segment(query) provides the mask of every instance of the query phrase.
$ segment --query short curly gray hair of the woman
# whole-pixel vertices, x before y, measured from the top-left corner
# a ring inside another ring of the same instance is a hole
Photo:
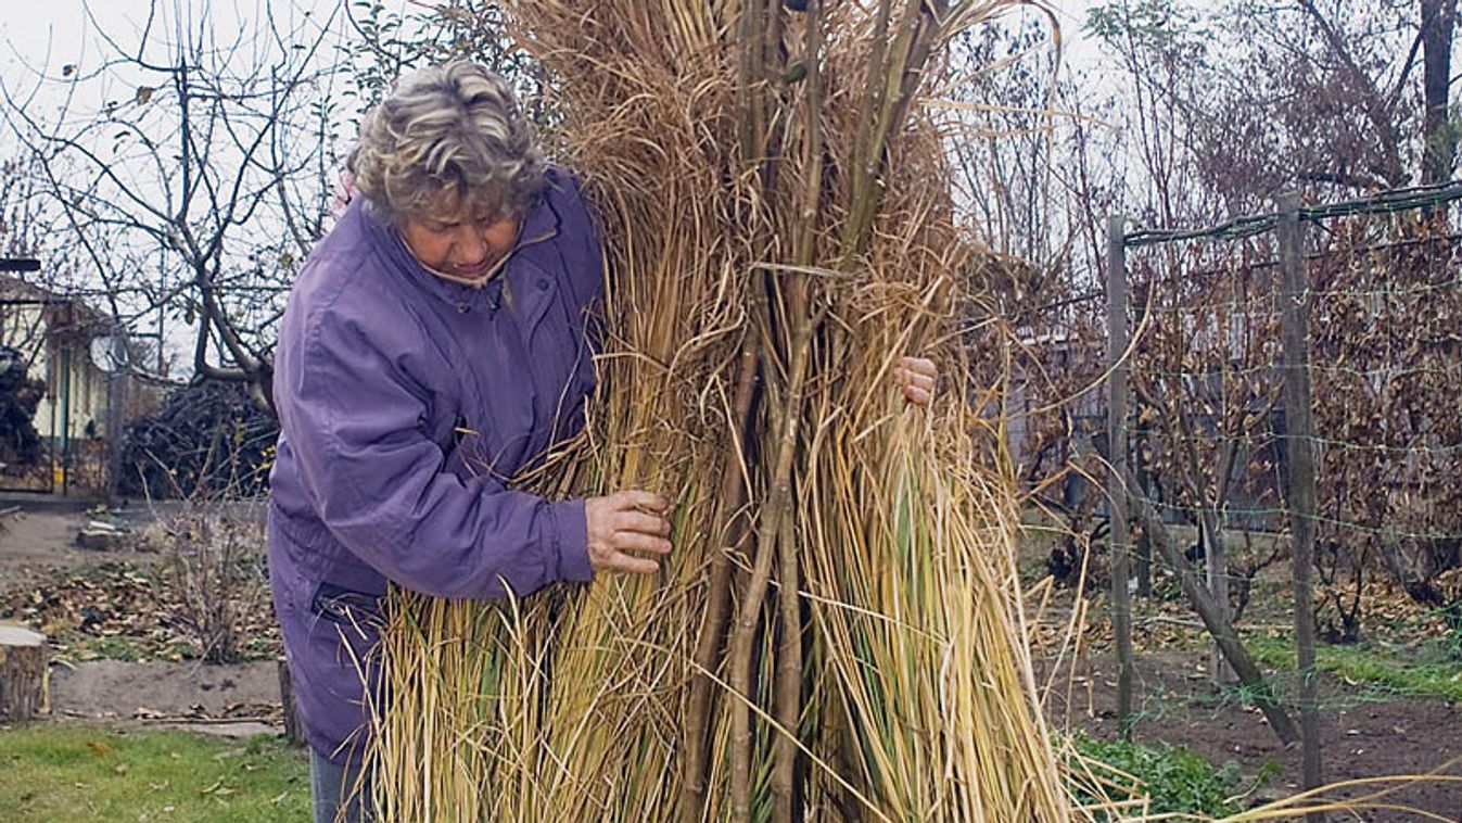
[[[544,187],[538,140],[512,89],[468,60],[402,76],[366,114],[348,167],[395,225],[427,216],[444,194],[472,213],[520,216]]]

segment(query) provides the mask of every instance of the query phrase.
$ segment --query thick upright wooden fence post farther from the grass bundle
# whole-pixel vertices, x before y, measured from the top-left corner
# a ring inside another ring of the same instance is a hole
[[[1300,672],[1303,788],[1320,785],[1320,715],[1316,706],[1314,602],[1314,411],[1310,401],[1310,289],[1300,234],[1300,196],[1279,199],[1279,327],[1284,338],[1284,421],[1288,453],[1289,534],[1294,541],[1294,645]],[[1311,816],[1317,819],[1319,816]]]

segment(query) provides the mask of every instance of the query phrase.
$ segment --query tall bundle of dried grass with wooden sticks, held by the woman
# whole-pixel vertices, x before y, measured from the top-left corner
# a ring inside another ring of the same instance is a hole
[[[677,548],[523,602],[398,595],[383,819],[1072,817],[915,96],[1015,4],[504,4],[611,272],[588,430],[523,482],[662,491]],[[931,412],[890,389],[905,352],[944,364]]]

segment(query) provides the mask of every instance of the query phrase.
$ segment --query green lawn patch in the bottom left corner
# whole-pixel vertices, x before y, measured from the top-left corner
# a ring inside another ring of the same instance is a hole
[[[80,724],[0,727],[6,823],[310,819],[306,750]]]

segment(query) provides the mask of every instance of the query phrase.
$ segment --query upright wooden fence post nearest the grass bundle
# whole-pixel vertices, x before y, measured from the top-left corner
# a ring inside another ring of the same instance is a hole
[[[1132,732],[1132,574],[1127,570],[1127,219],[1107,218],[1107,500],[1111,506],[1111,623],[1117,636],[1117,724]]]

